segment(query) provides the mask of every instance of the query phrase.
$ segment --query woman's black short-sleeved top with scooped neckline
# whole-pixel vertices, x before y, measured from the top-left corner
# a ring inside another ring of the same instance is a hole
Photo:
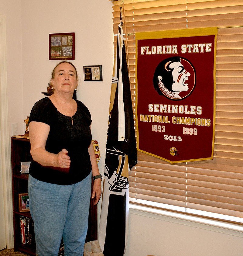
[[[80,182],[91,172],[91,161],[88,147],[91,143],[91,115],[87,107],[77,102],[77,112],[74,116],[65,116],[58,112],[51,100],[46,97],[33,106],[29,115],[32,121],[50,125],[46,140],[46,150],[57,154],[63,148],[67,149],[71,164],[69,172],[62,168],[44,167],[32,161],[29,174],[43,182],[59,185],[71,185]],[[73,119],[73,124],[72,124]]]

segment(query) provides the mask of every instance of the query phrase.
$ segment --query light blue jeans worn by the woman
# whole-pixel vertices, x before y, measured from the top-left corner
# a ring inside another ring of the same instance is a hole
[[[58,255],[63,237],[65,255],[83,256],[91,173],[74,185],[50,184],[29,175],[28,195],[35,228],[36,255]]]

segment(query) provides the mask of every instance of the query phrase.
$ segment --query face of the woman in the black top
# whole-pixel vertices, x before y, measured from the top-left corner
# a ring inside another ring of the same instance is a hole
[[[74,67],[69,63],[58,65],[51,83],[57,92],[74,92],[78,85]]]

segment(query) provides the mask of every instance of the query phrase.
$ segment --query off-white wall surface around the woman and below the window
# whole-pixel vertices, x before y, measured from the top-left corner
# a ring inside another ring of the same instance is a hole
[[[104,169],[108,105],[113,68],[112,4],[108,0],[0,0],[7,21],[7,82],[9,133],[18,123],[19,134],[33,104],[43,97],[58,61],[48,60],[49,33],[75,32],[75,60],[80,75],[77,98],[91,111],[93,138]],[[84,65],[102,65],[103,82],[84,82]],[[99,203],[100,211],[101,203]],[[242,236],[224,234],[207,226],[189,225],[173,218],[130,211],[125,256],[242,255]],[[188,249],[191,247],[192,249]],[[114,254],[115,255],[115,254]]]

